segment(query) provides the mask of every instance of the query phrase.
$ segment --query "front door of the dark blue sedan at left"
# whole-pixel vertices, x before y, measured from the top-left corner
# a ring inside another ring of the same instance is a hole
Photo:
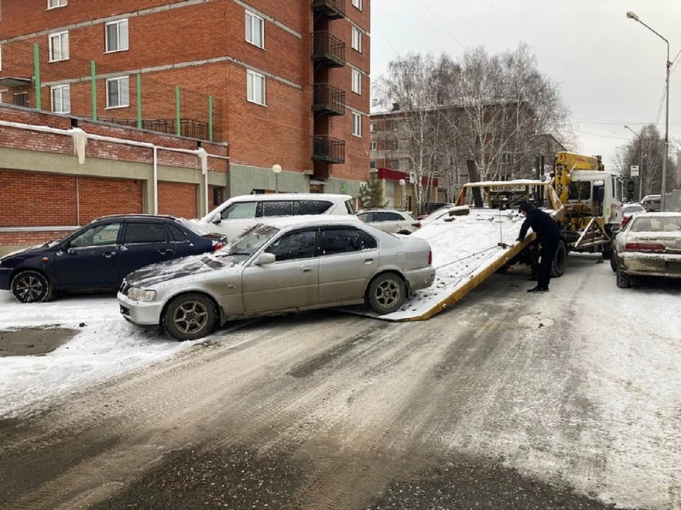
[[[118,285],[121,222],[97,223],[71,238],[54,259],[55,279],[66,288]]]

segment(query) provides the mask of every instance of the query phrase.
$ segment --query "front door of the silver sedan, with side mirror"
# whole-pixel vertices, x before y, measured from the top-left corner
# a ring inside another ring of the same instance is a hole
[[[265,248],[277,257],[272,264],[243,270],[241,288],[247,314],[316,306],[319,302],[319,258],[316,228],[285,233]]]

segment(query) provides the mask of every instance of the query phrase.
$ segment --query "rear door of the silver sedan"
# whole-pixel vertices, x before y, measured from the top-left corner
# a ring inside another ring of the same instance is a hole
[[[320,235],[320,304],[362,299],[378,267],[377,241],[350,226],[323,227]]]

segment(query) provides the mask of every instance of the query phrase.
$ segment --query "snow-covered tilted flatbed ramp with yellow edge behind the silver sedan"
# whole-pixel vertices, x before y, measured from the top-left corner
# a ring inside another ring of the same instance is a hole
[[[526,245],[516,243],[524,217],[517,211],[471,209],[466,216],[451,216],[411,235],[426,239],[433,250],[436,278],[393,314],[378,315],[368,309],[344,309],[386,321],[423,321],[459,301],[496,272]],[[502,243],[502,245],[499,245]]]

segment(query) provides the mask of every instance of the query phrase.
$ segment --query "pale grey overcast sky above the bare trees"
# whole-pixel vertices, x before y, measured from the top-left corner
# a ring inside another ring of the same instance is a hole
[[[681,0],[372,0],[372,78],[408,52],[484,45],[489,52],[524,41],[541,72],[560,82],[580,152],[606,165],[618,145],[658,119],[664,133],[667,46],[626,11],[681,50]],[[679,64],[681,57],[676,61]],[[670,86],[670,143],[681,143],[681,65]],[[673,69],[673,68],[672,68]],[[661,107],[661,109],[660,109]]]

